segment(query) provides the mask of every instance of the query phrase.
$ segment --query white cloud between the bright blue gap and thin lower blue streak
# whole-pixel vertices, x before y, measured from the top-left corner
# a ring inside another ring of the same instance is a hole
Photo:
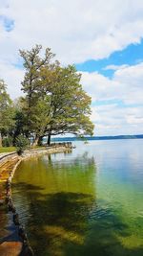
[[[82,72],[82,83],[92,101],[121,100],[125,104],[143,104],[143,62],[121,67],[112,79],[97,72]]]

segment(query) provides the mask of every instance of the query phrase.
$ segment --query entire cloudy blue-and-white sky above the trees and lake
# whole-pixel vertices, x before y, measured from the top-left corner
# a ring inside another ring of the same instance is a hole
[[[143,133],[142,0],[0,0],[0,78],[22,92],[19,49],[51,48],[92,97],[94,135]]]

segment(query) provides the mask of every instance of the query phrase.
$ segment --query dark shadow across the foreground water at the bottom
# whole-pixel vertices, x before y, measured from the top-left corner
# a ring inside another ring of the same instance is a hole
[[[129,248],[119,241],[118,236],[131,236],[127,224],[109,209],[99,209],[91,195],[42,195],[36,186],[18,186],[31,201],[26,227],[36,256],[143,255],[143,247]]]

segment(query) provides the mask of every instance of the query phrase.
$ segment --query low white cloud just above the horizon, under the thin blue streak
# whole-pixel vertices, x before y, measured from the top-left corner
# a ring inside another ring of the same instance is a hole
[[[92,107],[92,121],[96,135],[142,134],[143,106],[119,107],[102,105]]]

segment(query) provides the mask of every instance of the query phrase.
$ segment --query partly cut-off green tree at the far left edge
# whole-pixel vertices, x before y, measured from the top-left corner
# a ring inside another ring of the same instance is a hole
[[[10,96],[7,93],[7,85],[0,80],[0,147],[2,146],[3,136],[10,134],[14,128],[14,108]]]

